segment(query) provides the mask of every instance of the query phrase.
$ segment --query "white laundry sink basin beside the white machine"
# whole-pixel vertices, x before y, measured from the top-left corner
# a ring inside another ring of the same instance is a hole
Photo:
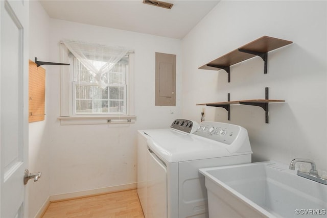
[[[259,162],[202,168],[209,217],[327,217],[327,185]]]

